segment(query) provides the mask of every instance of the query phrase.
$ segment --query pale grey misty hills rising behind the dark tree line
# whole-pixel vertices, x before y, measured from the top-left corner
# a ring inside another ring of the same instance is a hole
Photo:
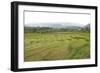
[[[76,28],[83,27],[83,25],[78,23],[38,23],[27,24],[25,27]]]

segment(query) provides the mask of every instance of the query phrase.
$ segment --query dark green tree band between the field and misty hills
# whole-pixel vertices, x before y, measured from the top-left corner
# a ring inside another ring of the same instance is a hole
[[[24,32],[67,32],[67,31],[81,31],[81,32],[90,32],[90,24],[85,25],[84,27],[78,26],[69,26],[65,28],[52,28],[52,27],[27,27],[24,26]]]

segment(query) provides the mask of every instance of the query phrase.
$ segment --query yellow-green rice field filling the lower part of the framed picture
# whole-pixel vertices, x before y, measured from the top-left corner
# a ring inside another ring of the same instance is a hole
[[[89,32],[24,33],[24,61],[90,58]]]

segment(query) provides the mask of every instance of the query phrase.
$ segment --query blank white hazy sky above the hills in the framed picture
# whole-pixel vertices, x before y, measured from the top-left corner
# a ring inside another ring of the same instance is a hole
[[[46,13],[46,12],[25,12],[25,25],[37,23],[79,23],[86,25],[90,23],[89,14],[69,13]],[[39,24],[41,26],[41,24]],[[42,24],[43,25],[43,24]]]

